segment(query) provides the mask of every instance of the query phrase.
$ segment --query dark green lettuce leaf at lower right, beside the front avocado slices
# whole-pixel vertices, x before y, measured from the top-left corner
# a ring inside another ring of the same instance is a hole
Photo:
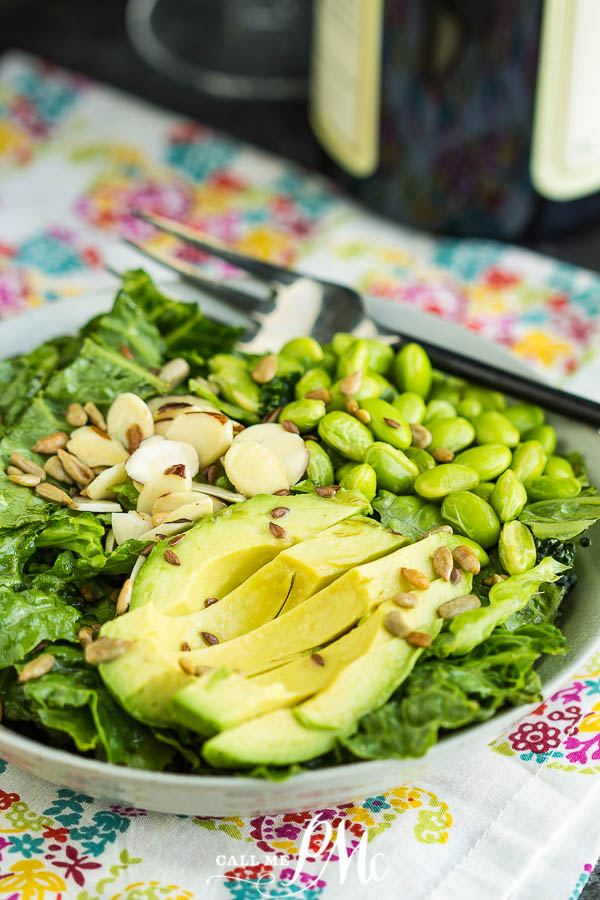
[[[498,628],[466,656],[421,662],[395,697],[364,716],[356,734],[341,743],[363,759],[422,756],[442,729],[481,722],[506,703],[537,699],[535,660],[564,649],[552,625]]]

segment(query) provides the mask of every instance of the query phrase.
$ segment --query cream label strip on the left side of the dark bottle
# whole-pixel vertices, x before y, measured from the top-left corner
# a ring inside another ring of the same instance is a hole
[[[317,0],[310,89],[313,131],[352,175],[379,162],[383,0]]]

